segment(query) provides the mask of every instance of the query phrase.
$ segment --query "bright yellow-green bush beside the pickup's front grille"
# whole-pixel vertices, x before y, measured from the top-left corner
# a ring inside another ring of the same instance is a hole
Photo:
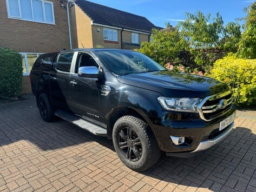
[[[241,59],[229,54],[214,63],[209,76],[229,85],[235,105],[256,104],[256,59]]]

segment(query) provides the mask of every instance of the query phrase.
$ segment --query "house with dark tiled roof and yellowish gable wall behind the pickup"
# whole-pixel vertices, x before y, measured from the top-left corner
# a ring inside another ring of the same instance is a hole
[[[78,48],[139,48],[158,28],[145,17],[85,0],[77,0],[73,9]]]

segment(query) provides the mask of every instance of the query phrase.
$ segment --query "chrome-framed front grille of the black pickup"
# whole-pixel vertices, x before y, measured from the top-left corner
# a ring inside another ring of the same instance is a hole
[[[211,121],[226,114],[232,107],[231,91],[206,97],[198,106],[202,120]]]

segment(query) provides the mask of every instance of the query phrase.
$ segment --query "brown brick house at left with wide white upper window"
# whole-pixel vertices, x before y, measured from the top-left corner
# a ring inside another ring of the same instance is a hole
[[[70,48],[67,3],[62,2],[0,1],[0,47],[14,49],[23,57],[22,94],[31,92],[29,72],[38,55]]]

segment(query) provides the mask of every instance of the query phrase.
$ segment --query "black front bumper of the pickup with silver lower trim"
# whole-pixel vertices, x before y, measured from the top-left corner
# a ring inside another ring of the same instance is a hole
[[[228,135],[234,122],[221,131],[219,124],[233,114],[235,116],[235,109],[231,109],[221,118],[211,122],[203,121],[200,118],[187,121],[169,120],[168,123],[165,120],[166,125],[154,125],[153,132],[160,149],[165,151],[168,156],[191,157],[212,147]],[[175,145],[170,136],[185,137],[185,143]]]

